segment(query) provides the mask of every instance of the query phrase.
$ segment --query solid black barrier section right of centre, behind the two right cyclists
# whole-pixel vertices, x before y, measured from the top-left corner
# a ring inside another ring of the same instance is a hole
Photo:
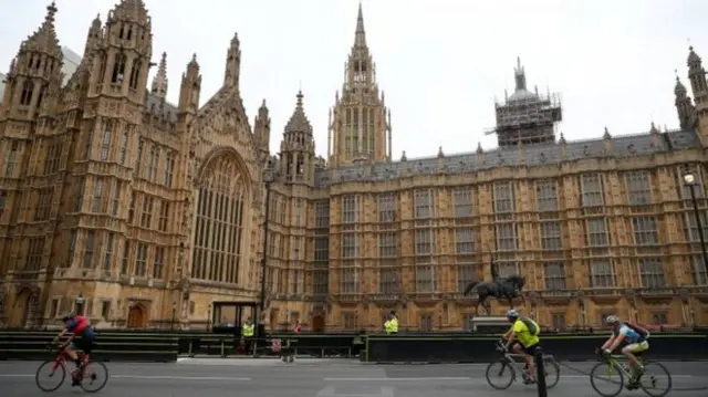
[[[546,354],[561,361],[595,359],[595,349],[607,333],[542,335]],[[360,358],[366,363],[487,363],[498,358],[494,342],[499,334],[369,335]],[[707,333],[659,333],[649,338],[653,359],[695,361],[708,358]]]

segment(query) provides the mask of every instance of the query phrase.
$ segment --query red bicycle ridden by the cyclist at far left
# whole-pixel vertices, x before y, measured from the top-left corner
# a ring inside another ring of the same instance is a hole
[[[63,344],[59,346],[59,354],[54,359],[48,359],[37,369],[37,375],[34,376],[34,382],[37,383],[37,387],[42,391],[54,391],[60,388],[64,384],[64,379],[66,378],[66,363],[67,363],[67,352],[70,344]],[[49,349],[53,349],[54,346],[48,346]],[[79,354],[79,353],[77,353]],[[87,359],[86,355],[81,353],[82,373],[79,373],[79,368],[72,370],[70,373],[72,380],[76,378],[81,378],[79,383],[79,387],[86,393],[96,393],[103,389],[108,382],[108,368],[106,368],[105,364],[101,362],[94,362]],[[55,375],[59,375],[59,383],[56,386],[45,387],[42,380],[42,369],[49,369],[49,377],[54,378]],[[86,383],[85,380],[90,380]],[[96,388],[92,386],[96,385]]]

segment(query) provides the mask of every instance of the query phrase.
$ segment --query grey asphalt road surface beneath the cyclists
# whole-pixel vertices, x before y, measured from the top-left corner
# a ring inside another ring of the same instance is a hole
[[[0,362],[0,396],[35,397],[40,363]],[[594,363],[568,363],[587,372]],[[708,362],[664,363],[674,377],[668,396],[705,397]],[[111,378],[105,397],[457,397],[537,396],[534,386],[514,384],[498,391],[485,380],[485,365],[366,365],[346,359],[181,358],[174,364],[107,363]],[[59,396],[82,394],[65,383]],[[643,391],[624,391],[642,396]],[[549,396],[596,396],[589,377],[562,367]]]

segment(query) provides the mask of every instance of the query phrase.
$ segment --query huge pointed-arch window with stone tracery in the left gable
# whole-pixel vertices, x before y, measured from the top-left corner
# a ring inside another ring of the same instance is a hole
[[[237,284],[247,248],[249,195],[236,159],[223,155],[205,170],[197,200],[191,276]]]

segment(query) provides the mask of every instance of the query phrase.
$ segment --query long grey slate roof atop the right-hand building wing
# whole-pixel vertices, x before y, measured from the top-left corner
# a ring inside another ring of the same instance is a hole
[[[700,147],[698,136],[694,130],[673,130],[658,133],[659,144],[654,145],[652,134],[627,135],[611,138],[615,158],[650,155],[655,153],[678,152]],[[442,169],[439,169],[440,158],[426,157],[394,161],[389,164],[358,164],[332,169],[317,169],[314,176],[315,187],[327,187],[346,181],[379,181],[393,180],[404,176],[430,174],[466,174],[502,166],[520,165],[519,153],[524,155],[523,165],[539,166],[562,161],[562,150],[565,146],[565,160],[583,158],[605,158],[605,140],[603,138],[569,142],[566,144],[538,144],[519,147],[503,147],[479,153],[446,155],[441,158]],[[483,156],[483,158],[480,158]]]

